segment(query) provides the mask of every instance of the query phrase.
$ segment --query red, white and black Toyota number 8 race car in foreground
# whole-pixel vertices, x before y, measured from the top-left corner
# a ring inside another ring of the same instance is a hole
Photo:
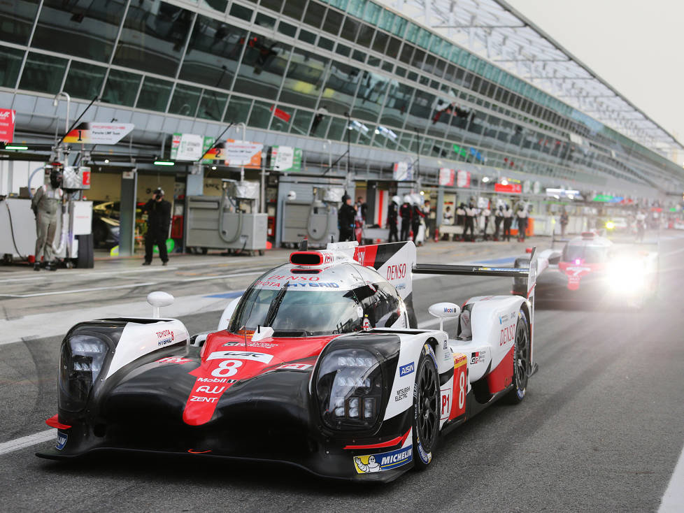
[[[499,399],[525,398],[535,261],[415,260],[412,242],[293,252],[228,305],[218,331],[194,339],[206,339],[201,349],[180,321],[157,318],[173,299],[163,292],[148,296],[155,318],[76,324],[47,421],[57,445],[37,455],[222,456],[380,482],[427,468],[441,435]],[[525,277],[529,294],[432,305],[442,323],[457,321],[448,335],[417,328],[416,273]]]

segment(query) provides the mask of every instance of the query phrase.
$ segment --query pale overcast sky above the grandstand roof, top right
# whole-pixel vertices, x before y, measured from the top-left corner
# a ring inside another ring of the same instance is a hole
[[[684,143],[684,1],[507,1]]]

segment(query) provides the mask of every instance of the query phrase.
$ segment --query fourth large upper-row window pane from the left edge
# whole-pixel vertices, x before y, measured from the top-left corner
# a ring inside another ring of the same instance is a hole
[[[179,78],[229,89],[245,45],[247,31],[198,16]]]

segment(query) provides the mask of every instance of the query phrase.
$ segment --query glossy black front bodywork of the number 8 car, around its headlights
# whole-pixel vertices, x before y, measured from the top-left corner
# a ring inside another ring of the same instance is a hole
[[[111,328],[117,330],[121,326]],[[315,358],[306,360],[312,366],[304,371],[273,366],[254,377],[238,380],[220,396],[211,420],[199,426],[186,424],[183,411],[196,383],[197,374],[193,375],[193,371],[201,367],[201,359],[185,350],[178,352],[176,347],[175,354],[168,349],[155,352],[95,384],[83,410],[60,407],[59,422],[70,427],[59,430],[55,449],[38,456],[62,459],[94,451],[152,451],[279,461],[325,477],[390,481],[412,465],[359,474],[353,458],[399,449],[399,442],[383,448],[345,447],[397,440],[411,428],[411,408],[382,420],[397,366],[399,338],[390,334],[346,335],[329,343],[323,354],[354,345],[372,347],[384,356],[381,365],[385,402],[380,421],[371,429],[334,430],[325,425],[315,391],[309,391],[312,374],[311,386],[315,389]],[[163,358],[166,362],[159,363]],[[219,386],[221,380],[216,378],[206,384]]]

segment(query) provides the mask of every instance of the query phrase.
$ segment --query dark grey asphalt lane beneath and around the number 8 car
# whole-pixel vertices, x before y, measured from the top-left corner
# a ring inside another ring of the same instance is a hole
[[[660,291],[641,312],[537,310],[540,370],[521,405],[494,405],[448,435],[427,472],[382,486],[294,468],[204,459],[0,456],[3,511],[655,511],[684,440],[684,238],[664,240]],[[420,257],[419,257],[420,259]],[[38,273],[36,273],[38,274]],[[429,277],[429,304],[500,294],[508,280]],[[181,317],[189,331],[217,312]],[[43,431],[56,412],[61,336],[0,347],[0,442]],[[275,421],[275,419],[274,419]]]

